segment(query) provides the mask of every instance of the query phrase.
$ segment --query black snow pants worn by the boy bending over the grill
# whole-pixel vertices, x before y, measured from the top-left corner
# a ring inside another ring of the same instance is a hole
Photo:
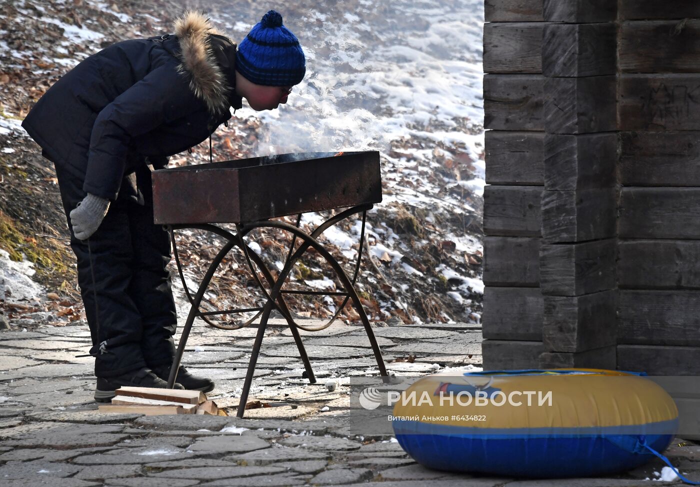
[[[94,374],[111,377],[170,365],[176,309],[169,271],[170,241],[153,224],[151,169],[125,176],[116,202],[90,239],[73,234],[69,213],[85,197],[82,178],[56,164],[78,284],[92,336]]]

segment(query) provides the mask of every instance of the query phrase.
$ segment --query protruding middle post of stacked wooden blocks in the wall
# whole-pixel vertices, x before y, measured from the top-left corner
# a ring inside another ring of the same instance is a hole
[[[542,367],[615,369],[615,2],[545,0]]]

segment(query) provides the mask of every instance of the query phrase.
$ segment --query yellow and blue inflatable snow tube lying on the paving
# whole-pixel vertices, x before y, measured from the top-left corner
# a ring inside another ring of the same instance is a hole
[[[633,372],[550,369],[444,372],[394,403],[402,448],[426,467],[510,477],[631,470],[664,451],[678,409]]]

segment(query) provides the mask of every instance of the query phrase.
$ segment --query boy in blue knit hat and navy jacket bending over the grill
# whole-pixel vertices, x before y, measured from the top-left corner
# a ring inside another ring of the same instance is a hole
[[[206,140],[243,98],[256,111],[277,108],[304,78],[304,52],[274,10],[238,48],[200,13],[174,32],[88,57],[22,122],[56,168],[100,402],[120,386],[167,387],[174,358],[170,241],[153,225],[147,164],[162,169]],[[184,367],[176,381],[214,388]]]

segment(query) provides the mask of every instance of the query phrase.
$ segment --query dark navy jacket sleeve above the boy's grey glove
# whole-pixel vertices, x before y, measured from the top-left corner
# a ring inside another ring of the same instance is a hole
[[[200,104],[174,66],[165,64],[148,73],[97,115],[83,190],[116,199],[132,139],[200,109]]]

